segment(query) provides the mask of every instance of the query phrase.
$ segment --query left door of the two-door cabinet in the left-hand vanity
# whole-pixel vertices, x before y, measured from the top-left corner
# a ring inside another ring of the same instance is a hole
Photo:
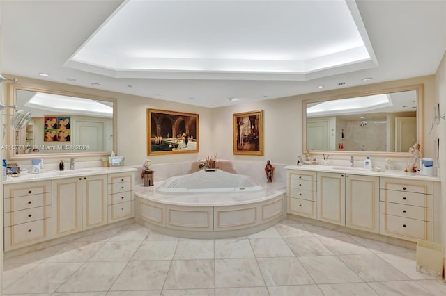
[[[82,178],[54,180],[52,190],[53,238],[81,231]]]

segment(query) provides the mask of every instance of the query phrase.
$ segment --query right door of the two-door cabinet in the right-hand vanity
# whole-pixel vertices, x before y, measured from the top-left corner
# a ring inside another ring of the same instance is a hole
[[[379,177],[346,175],[346,227],[379,233]]]

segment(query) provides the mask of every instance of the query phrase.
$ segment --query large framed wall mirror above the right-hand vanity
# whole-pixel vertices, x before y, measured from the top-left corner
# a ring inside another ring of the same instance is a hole
[[[303,102],[304,151],[406,155],[422,144],[423,85]]]

